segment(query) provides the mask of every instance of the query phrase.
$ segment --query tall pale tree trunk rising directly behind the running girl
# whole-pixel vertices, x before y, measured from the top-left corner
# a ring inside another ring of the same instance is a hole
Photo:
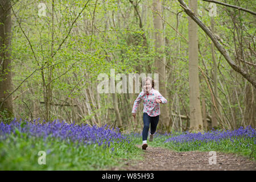
[[[153,10],[159,14],[162,14],[162,1],[153,1]],[[155,51],[160,55],[155,57],[156,72],[159,73],[159,92],[163,97],[167,97],[166,90],[166,58],[162,56],[164,54],[164,38],[163,38],[163,23],[159,14],[154,13],[154,30],[155,30]],[[159,118],[159,130],[162,132],[169,132],[170,129],[170,117],[168,105],[161,105],[161,114]]]

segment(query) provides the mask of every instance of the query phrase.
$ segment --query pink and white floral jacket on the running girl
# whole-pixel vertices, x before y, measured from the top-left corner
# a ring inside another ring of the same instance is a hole
[[[142,90],[134,101],[132,113],[136,113],[139,103],[143,100],[143,113],[147,113],[151,117],[160,115],[160,105],[155,101],[156,99],[161,100],[162,104],[167,103],[166,98],[158,90],[152,88],[148,94]]]

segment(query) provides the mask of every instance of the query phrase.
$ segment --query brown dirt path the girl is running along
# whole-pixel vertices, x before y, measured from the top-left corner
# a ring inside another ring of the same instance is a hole
[[[138,146],[141,147],[141,146]],[[122,167],[110,170],[172,171],[172,170],[250,170],[256,171],[256,162],[236,154],[216,152],[216,164],[209,164],[208,152],[174,152],[159,147],[147,147],[144,160],[127,160]]]

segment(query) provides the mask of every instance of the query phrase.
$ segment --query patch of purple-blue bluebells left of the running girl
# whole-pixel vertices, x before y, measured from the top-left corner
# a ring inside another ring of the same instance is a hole
[[[10,123],[0,123],[0,140],[5,140],[10,134],[17,135],[24,133],[27,137],[42,137],[56,138],[65,140],[68,143],[78,142],[80,144],[98,144],[101,146],[110,146],[111,143],[128,142],[131,140],[119,132],[119,129],[110,129],[108,125],[97,127],[89,126],[87,124],[76,125],[75,123],[68,124],[55,120],[53,122],[43,121],[38,122],[39,119],[33,122],[28,121],[11,121]]]

